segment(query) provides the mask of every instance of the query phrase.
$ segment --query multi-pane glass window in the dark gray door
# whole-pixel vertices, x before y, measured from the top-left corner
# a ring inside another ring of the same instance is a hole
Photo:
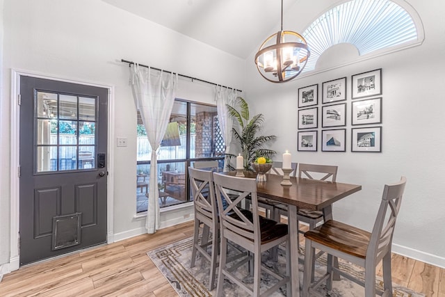
[[[95,168],[97,98],[35,96],[35,172]]]

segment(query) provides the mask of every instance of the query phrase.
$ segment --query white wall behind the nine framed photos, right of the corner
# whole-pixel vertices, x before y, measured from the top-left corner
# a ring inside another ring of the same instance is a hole
[[[279,152],[277,159],[281,159],[284,150],[290,150],[295,162],[338,165],[339,182],[362,185],[362,191],[334,204],[334,218],[371,230],[383,185],[405,175],[407,186],[394,251],[445,267],[445,189],[441,181],[445,176],[445,5],[442,1],[409,3],[423,20],[423,45],[280,84],[261,78],[254,63],[250,63],[252,53],[246,64],[249,79],[244,96],[254,113],[264,113],[264,134],[277,136],[273,145]],[[305,15],[316,15],[310,7],[306,11]],[[321,57],[325,67],[334,65],[336,57],[344,58],[345,49],[348,48],[340,46],[326,52]],[[351,152],[351,75],[378,68],[382,68],[382,152]],[[318,83],[320,115],[323,81],[341,77],[347,77],[346,152],[321,152],[320,118],[318,152],[298,152],[298,88]]]

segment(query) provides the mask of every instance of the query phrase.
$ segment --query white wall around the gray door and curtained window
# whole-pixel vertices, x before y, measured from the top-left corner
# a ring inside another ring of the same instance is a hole
[[[6,88],[0,93],[0,268],[10,257],[11,69],[114,87],[111,115],[114,134],[128,138],[128,147],[115,147],[115,140],[111,140],[115,152],[115,170],[111,172],[115,181],[114,232],[118,238],[140,234],[145,220],[133,218],[136,212],[136,107],[129,88],[129,67],[120,63],[120,59],[238,89],[243,87],[244,61],[99,0],[0,0],[0,13],[2,11],[0,29],[4,27],[4,39],[0,44],[3,45],[0,74],[3,71],[1,83]],[[213,86],[180,78],[177,97],[214,103]],[[179,215],[184,220],[189,214]],[[161,219],[163,225],[177,220],[165,214]]]

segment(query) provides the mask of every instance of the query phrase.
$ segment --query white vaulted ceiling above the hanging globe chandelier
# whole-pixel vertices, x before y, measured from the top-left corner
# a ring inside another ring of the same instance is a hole
[[[280,0],[102,1],[243,59],[280,28]],[[296,2],[284,0],[284,12]]]

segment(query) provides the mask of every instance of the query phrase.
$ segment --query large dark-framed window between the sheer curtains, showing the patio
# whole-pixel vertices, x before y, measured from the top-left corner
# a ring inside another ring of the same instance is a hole
[[[147,211],[152,149],[138,112],[137,212]],[[216,106],[175,100],[170,123],[158,151],[159,205],[191,201],[187,168],[194,161],[218,160],[223,168],[225,144]]]

